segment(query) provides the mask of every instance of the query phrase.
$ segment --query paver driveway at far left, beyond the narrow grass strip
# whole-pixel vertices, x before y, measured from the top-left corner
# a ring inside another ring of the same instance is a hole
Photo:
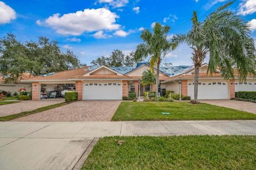
[[[27,100],[27,101],[22,101],[20,103],[5,104],[0,106],[0,117],[18,114],[22,111],[31,111],[37,108],[42,108],[45,106],[62,103],[62,102],[65,102],[64,99],[39,100],[39,101]]]

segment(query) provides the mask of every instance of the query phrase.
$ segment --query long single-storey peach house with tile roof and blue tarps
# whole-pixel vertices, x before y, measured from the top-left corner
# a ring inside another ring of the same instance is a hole
[[[59,93],[68,86],[75,87],[78,100],[122,100],[129,92],[142,95],[145,91],[155,91],[155,85],[142,86],[139,83],[142,72],[147,69],[148,62],[139,62],[135,67],[91,66],[28,78],[22,82],[32,83],[33,100],[44,99],[49,92]],[[248,77],[248,81],[241,84],[238,75],[235,80],[223,79],[220,71],[207,75],[207,64],[203,64],[199,72],[198,99],[230,99],[235,97],[235,91],[256,90],[253,77]],[[193,79],[193,66],[161,67],[159,88],[193,99]]]

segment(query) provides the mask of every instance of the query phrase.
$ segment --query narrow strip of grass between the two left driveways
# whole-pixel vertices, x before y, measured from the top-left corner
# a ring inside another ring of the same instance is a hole
[[[12,120],[12,119],[17,119],[17,118],[20,118],[20,117],[23,117],[23,116],[36,114],[36,113],[41,112],[41,111],[45,111],[45,110],[49,110],[49,109],[53,109],[53,108],[58,108],[58,107],[66,105],[66,104],[68,104],[68,103],[65,103],[65,102],[64,103],[57,103],[57,104],[52,104],[50,106],[38,108],[38,109],[35,109],[35,110],[32,110],[32,111],[23,111],[23,112],[20,112],[19,114],[0,117],[0,121],[3,122],[3,121],[9,121],[9,120]]]

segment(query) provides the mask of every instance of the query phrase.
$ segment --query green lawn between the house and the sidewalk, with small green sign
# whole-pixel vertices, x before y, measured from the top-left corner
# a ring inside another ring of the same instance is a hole
[[[162,115],[170,112],[171,115]],[[189,102],[122,102],[112,121],[120,120],[246,120],[256,115],[245,111]]]

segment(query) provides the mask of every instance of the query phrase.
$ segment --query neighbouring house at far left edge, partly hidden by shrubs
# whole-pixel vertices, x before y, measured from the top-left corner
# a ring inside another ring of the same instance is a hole
[[[29,82],[21,82],[23,79],[28,79],[30,78],[31,75],[26,73],[23,74],[17,82],[15,83],[4,83],[4,77],[0,76],[0,90],[6,91],[6,92],[11,92],[12,95],[17,92],[19,94],[19,90],[21,88],[25,88],[26,91],[30,92],[31,91],[31,83]]]

